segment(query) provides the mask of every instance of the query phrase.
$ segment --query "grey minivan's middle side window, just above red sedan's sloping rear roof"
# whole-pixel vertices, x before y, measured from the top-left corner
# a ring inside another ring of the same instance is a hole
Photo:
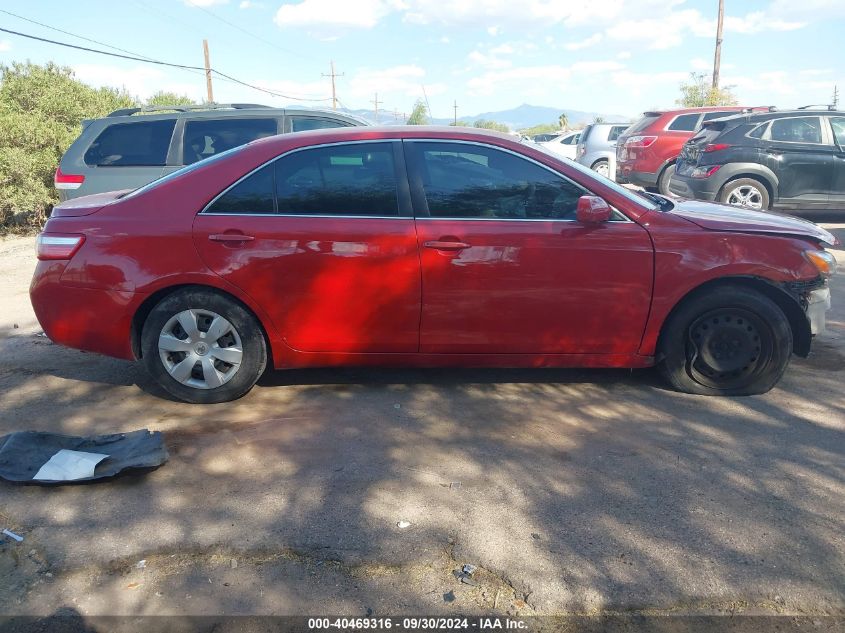
[[[195,119],[185,122],[182,162],[190,165],[278,132],[276,119]]]

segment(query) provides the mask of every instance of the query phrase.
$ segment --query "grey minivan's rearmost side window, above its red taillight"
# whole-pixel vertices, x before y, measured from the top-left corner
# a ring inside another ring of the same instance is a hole
[[[85,152],[85,164],[97,167],[164,165],[175,126],[175,119],[110,125]]]

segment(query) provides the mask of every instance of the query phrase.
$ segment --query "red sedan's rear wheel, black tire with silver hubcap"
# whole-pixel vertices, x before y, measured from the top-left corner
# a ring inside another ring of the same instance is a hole
[[[156,382],[192,404],[240,398],[267,366],[258,320],[236,301],[204,288],[179,290],[153,308],[141,332],[141,353]]]

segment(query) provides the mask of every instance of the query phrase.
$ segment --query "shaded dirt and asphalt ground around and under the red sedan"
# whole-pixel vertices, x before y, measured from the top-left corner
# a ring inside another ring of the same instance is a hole
[[[0,435],[148,428],[171,458],[0,483],[0,529],[24,536],[0,542],[0,614],[845,614],[845,275],[764,396],[651,370],[361,369],[196,406],[39,336],[34,264],[32,238],[0,241]]]

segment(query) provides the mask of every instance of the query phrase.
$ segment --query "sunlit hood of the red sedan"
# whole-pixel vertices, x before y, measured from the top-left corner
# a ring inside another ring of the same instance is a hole
[[[835,246],[837,243],[832,233],[801,218],[697,200],[672,202],[675,203],[675,208],[670,213],[712,231],[795,235],[809,237],[828,246]]]

